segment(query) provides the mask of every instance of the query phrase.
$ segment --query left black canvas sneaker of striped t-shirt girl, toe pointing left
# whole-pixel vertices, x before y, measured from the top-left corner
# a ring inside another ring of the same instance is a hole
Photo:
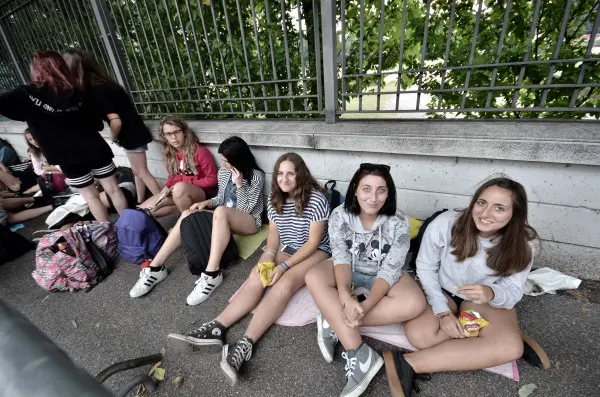
[[[169,347],[191,353],[217,353],[223,349],[227,328],[216,320],[202,324],[200,328],[185,334],[169,334]]]

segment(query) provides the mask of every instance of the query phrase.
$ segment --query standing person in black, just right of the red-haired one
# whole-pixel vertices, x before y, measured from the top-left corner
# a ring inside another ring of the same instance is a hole
[[[80,88],[89,91],[101,109],[101,117],[108,121],[113,142],[121,146],[127,155],[135,175],[138,204],[144,202],[146,187],[153,195],[159,194],[160,185],[148,170],[146,158],[152,135],[123,87],[82,50],[70,49],[63,58]]]

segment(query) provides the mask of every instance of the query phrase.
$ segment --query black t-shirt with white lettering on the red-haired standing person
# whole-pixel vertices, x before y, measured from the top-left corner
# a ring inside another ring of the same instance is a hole
[[[59,166],[98,166],[114,157],[98,133],[103,124],[93,105],[79,91],[31,85],[0,95],[0,114],[26,121],[48,163]]]

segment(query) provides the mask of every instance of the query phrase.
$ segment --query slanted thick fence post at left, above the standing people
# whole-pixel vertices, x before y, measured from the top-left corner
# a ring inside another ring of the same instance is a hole
[[[125,65],[119,41],[115,34],[111,15],[106,9],[105,0],[90,0],[90,3],[115,77],[119,84],[125,87],[127,92],[131,92],[133,88],[131,85],[131,78],[127,72],[127,66]]]

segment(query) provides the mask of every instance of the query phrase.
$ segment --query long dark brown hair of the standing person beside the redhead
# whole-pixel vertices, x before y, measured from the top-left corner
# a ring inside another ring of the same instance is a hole
[[[98,66],[96,59],[89,52],[79,48],[70,48],[62,57],[67,63],[78,89],[85,91],[91,86],[102,84],[121,87]]]

